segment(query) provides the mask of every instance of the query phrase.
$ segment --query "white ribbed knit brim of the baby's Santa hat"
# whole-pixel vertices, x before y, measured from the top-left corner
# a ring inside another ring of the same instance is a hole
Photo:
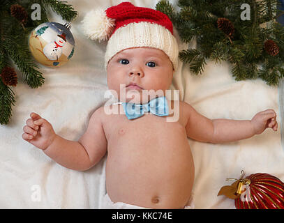
[[[174,70],[177,70],[179,46],[176,38],[164,26],[150,22],[133,22],[120,27],[112,34],[105,52],[105,69],[115,54],[134,47],[162,50],[169,56]]]

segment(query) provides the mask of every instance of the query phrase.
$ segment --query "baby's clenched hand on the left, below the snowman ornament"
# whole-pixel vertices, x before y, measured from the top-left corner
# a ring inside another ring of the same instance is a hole
[[[29,141],[33,146],[44,150],[52,144],[56,134],[52,125],[38,114],[32,112],[30,116],[31,118],[26,122],[27,125],[23,128],[22,138]]]

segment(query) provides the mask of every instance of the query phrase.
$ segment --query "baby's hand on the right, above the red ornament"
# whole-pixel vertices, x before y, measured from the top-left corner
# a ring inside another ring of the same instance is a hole
[[[276,112],[273,109],[267,109],[258,112],[251,120],[255,134],[261,134],[265,129],[272,128],[277,131],[278,123],[276,121]]]

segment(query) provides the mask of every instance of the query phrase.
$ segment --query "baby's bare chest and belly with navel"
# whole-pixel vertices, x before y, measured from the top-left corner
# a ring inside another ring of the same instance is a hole
[[[184,128],[178,123],[167,127],[129,125],[107,142],[106,183],[113,202],[146,208],[186,206],[193,187],[193,157]]]

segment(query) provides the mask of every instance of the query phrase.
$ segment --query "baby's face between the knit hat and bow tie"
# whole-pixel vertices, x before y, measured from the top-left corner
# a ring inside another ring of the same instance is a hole
[[[172,83],[172,75],[172,62],[162,50],[151,47],[124,49],[108,63],[107,86],[117,92],[122,102],[145,103],[165,95]],[[143,90],[152,90],[156,94],[142,97],[142,93],[147,95],[149,92]]]

